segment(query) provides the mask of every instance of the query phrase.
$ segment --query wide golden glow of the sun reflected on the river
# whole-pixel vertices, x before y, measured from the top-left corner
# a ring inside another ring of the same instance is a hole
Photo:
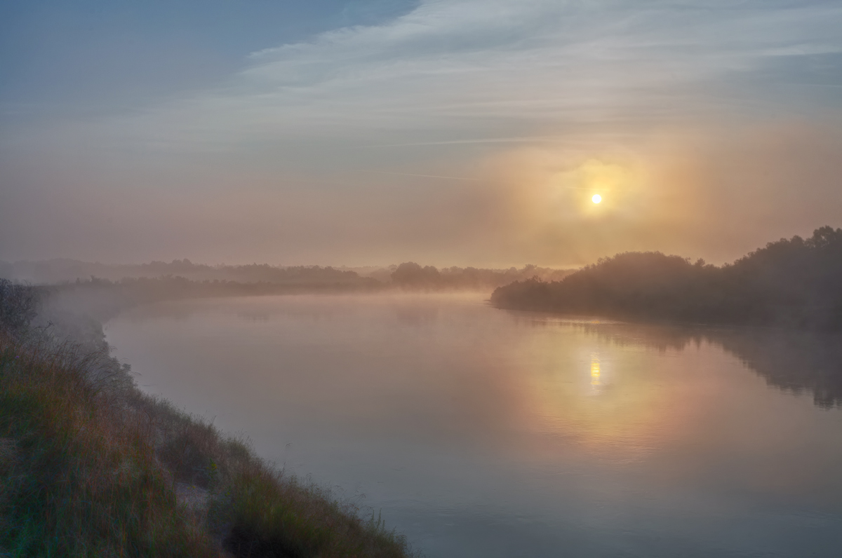
[[[605,343],[574,328],[561,332],[566,335],[546,338],[552,348],[545,354],[552,357],[525,376],[533,396],[532,426],[557,440],[552,447],[626,463],[686,432],[692,406],[666,380],[674,357]],[[582,350],[583,344],[590,347]]]

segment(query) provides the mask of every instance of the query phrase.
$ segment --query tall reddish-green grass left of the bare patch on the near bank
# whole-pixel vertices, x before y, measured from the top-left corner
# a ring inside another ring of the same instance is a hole
[[[216,556],[147,424],[86,380],[90,357],[0,340],[0,545],[21,556]]]

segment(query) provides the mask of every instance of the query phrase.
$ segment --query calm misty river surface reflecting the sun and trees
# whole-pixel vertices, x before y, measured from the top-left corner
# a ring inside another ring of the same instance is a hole
[[[144,389],[431,558],[840,555],[839,337],[482,298],[184,300],[106,331]]]

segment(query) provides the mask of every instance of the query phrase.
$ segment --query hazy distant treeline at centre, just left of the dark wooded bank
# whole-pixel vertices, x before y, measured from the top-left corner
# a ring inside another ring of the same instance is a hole
[[[418,263],[406,262],[397,266],[391,279],[393,285],[405,290],[491,290],[532,277],[557,281],[571,273],[573,271],[539,268],[531,264],[520,269],[437,269],[431,265],[421,267]]]

